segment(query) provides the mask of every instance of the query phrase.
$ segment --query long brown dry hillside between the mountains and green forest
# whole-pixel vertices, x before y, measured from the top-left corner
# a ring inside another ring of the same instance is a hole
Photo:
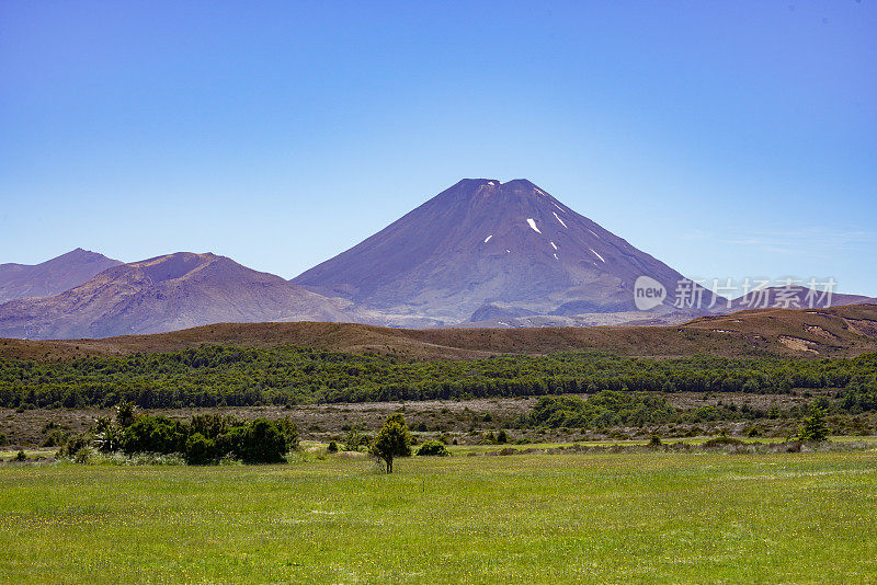
[[[817,310],[764,309],[674,326],[389,329],[350,323],[223,323],[103,340],[0,341],[0,357],[56,359],[168,352],[203,344],[306,345],[327,351],[463,359],[500,353],[605,351],[638,356],[711,354],[842,357],[877,351],[877,305]]]

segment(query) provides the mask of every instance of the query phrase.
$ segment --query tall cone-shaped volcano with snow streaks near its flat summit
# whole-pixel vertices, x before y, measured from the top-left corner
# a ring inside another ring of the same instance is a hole
[[[529,181],[465,179],[293,282],[455,323],[633,311],[639,276],[671,292],[683,278]]]

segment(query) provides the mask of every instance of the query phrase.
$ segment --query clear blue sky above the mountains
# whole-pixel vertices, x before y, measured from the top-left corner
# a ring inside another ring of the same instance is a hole
[[[877,295],[877,3],[0,0],[0,262],[292,277],[478,176]]]

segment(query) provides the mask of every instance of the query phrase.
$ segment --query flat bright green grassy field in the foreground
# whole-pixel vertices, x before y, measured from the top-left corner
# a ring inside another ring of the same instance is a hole
[[[870,583],[877,452],[0,467],[8,583]]]

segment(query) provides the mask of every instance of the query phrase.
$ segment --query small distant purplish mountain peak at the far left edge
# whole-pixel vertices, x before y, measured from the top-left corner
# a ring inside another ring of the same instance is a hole
[[[118,264],[122,263],[117,260],[81,248],[39,264],[0,264],[0,303],[57,295]]]

